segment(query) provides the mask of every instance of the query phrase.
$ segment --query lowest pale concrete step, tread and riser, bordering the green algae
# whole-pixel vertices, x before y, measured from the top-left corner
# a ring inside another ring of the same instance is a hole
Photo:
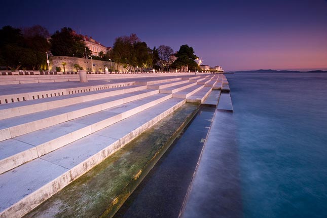
[[[0,217],[21,217],[183,105],[171,98],[0,175]]]

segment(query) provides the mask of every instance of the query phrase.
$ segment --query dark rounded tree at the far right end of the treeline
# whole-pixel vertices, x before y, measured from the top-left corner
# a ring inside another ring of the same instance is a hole
[[[194,66],[196,64],[195,59],[198,58],[194,54],[193,48],[188,45],[180,46],[175,56],[177,59],[173,62],[172,66],[179,70],[184,69],[185,67]]]

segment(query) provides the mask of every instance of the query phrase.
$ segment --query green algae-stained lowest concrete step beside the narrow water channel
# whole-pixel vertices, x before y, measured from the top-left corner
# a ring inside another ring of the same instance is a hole
[[[24,217],[112,217],[197,110],[181,106]]]

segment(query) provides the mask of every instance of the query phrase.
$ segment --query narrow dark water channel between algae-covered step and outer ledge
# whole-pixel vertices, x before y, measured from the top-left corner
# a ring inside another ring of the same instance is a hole
[[[114,217],[178,217],[214,113],[213,107],[200,107]]]

